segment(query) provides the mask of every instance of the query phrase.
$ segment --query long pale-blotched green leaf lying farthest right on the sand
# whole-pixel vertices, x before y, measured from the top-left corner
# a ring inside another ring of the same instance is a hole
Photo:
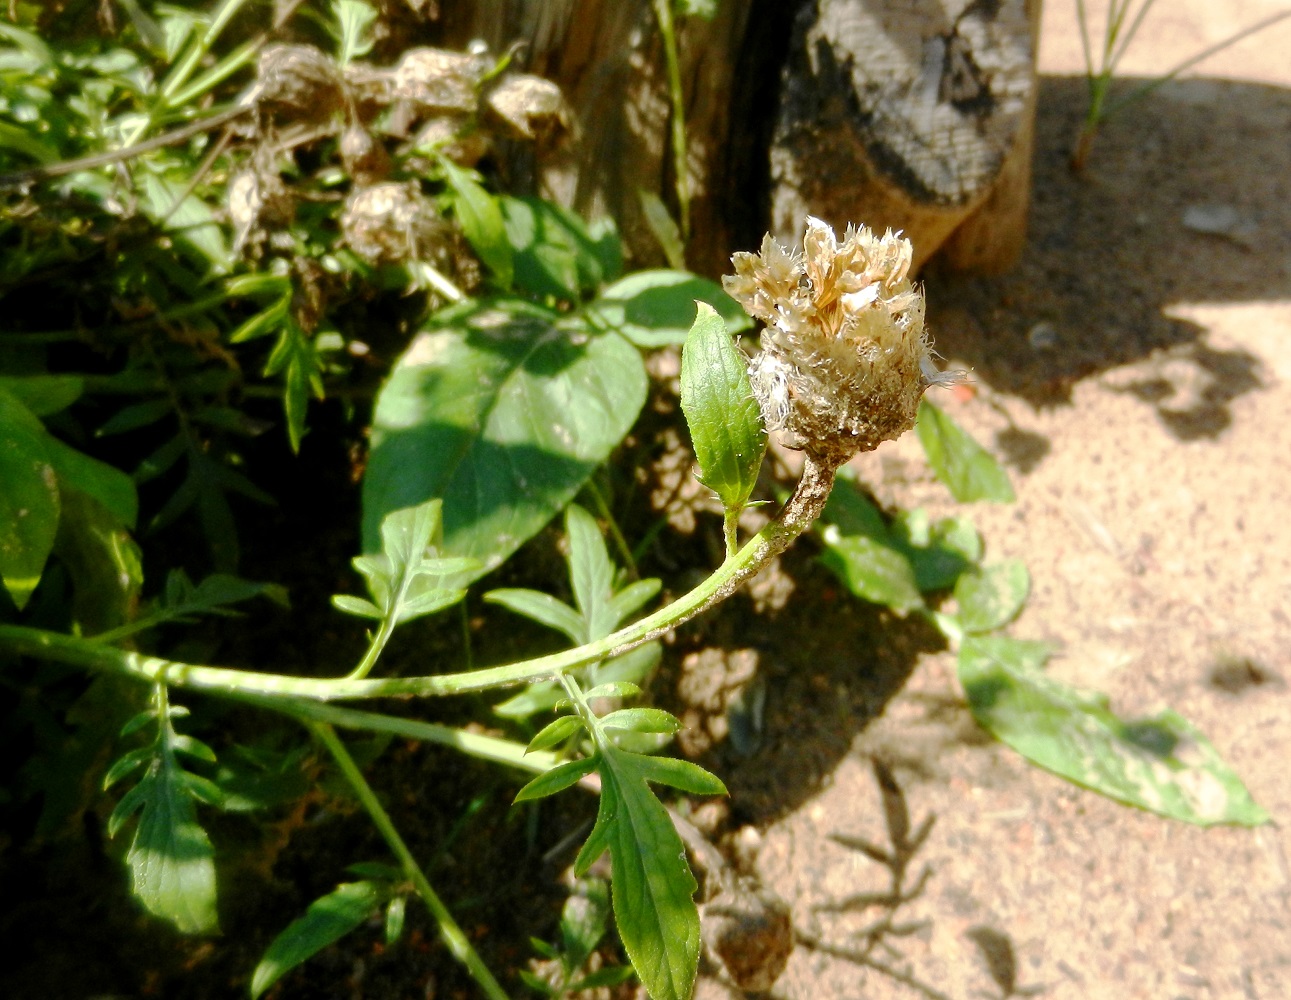
[[[1106,697],[1041,670],[1048,649],[1001,636],[967,636],[959,680],[973,716],[995,738],[1068,781],[1140,809],[1198,826],[1269,819],[1215,747],[1167,710],[1124,721]]]

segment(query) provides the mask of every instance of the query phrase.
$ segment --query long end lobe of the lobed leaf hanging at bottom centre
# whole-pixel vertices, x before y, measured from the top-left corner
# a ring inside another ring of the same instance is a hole
[[[642,761],[651,757],[605,745],[600,759],[600,808],[587,845],[604,843],[609,849],[618,937],[652,1000],[689,1000],[700,959],[700,915],[686,848],[646,783]],[[580,853],[578,861],[584,859]]]

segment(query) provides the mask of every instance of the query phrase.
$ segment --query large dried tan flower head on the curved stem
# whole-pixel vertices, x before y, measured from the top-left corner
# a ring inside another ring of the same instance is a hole
[[[749,378],[771,430],[842,463],[914,426],[937,372],[923,329],[923,294],[910,283],[910,241],[848,226],[843,241],[807,218],[803,249],[769,235],[762,253],[737,253],[726,290],[762,320]]]

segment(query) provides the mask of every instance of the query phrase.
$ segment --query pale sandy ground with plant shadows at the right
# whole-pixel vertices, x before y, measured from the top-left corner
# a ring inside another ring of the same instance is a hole
[[[1281,6],[1161,5],[1124,71]],[[862,961],[799,946],[775,996],[1291,997],[1291,22],[1112,121],[1075,178],[1074,3],[1046,8],[1029,246],[1003,279],[928,275],[937,346],[975,373],[939,401],[1013,472],[1015,506],[972,510],[1032,572],[1012,634],[1061,643],[1052,672],[1124,715],[1193,720],[1276,823],[1201,830],[1069,786],[982,739],[951,654],[924,654],[763,825],[757,862],[826,946],[893,926]],[[950,510],[913,436],[862,471],[886,502]],[[869,683],[852,657],[826,681],[840,705]],[[935,817],[895,912],[837,906],[891,890],[891,866],[831,837],[889,844],[874,757],[914,823]]]

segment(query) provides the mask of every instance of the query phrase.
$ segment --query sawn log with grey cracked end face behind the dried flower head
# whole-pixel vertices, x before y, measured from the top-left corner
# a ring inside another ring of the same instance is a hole
[[[820,0],[800,10],[771,147],[772,231],[793,237],[804,214],[904,230],[918,266],[982,210],[953,262],[1011,263],[1028,205],[1033,8]]]

